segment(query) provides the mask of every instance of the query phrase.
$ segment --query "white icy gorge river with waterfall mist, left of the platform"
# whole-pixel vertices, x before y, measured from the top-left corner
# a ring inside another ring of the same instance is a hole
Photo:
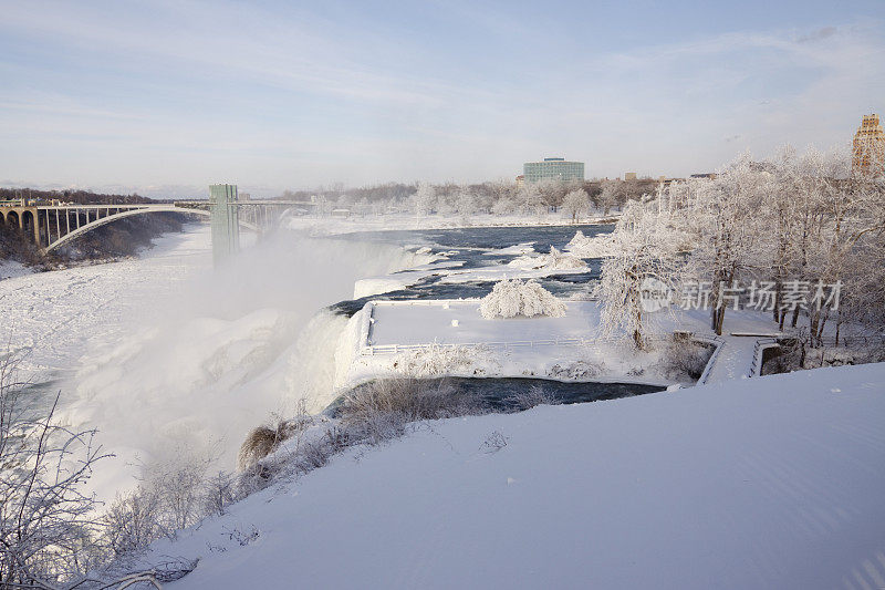
[[[0,338],[32,377],[61,374],[62,420],[117,455],[92,482],[108,499],[152,460],[231,468],[251,428],[302,397],[324,407],[346,319],[317,311],[360,277],[427,260],[281,232],[212,271],[208,227],[191,226],[142,258],[0,281]]]

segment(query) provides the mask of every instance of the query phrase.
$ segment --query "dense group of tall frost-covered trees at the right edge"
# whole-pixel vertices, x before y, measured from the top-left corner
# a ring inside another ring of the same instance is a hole
[[[708,296],[702,304],[717,333],[729,308],[752,301],[753,282],[773,286],[773,320],[801,329],[812,348],[833,329],[839,342],[847,322],[867,337],[883,333],[885,183],[852,176],[850,163],[844,151],[798,155],[788,146],[767,161],[745,154],[716,178],[631,201],[612,236],[618,253],[603,266],[602,299],[615,312],[604,313],[604,327],[641,338],[638,284],[647,265],[667,268],[667,252],[681,251],[675,268]]]

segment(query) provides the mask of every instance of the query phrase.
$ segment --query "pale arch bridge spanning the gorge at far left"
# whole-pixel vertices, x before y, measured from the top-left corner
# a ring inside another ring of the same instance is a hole
[[[236,190],[236,189],[235,189]],[[235,193],[236,195],[236,193]],[[235,200],[225,208],[235,208],[235,224],[259,235],[275,228],[293,208],[310,208],[310,201]],[[0,226],[13,227],[32,237],[34,244],[50,252],[101,226],[136,215],[178,213],[212,217],[211,200],[179,200],[162,204],[33,204],[24,199],[0,203]],[[215,239],[215,237],[214,237]]]

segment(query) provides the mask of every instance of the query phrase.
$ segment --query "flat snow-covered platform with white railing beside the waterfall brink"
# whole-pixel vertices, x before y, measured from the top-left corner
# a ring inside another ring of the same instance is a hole
[[[666,346],[641,352],[623,342],[598,337],[596,301],[566,301],[562,318],[488,320],[480,301],[373,301],[354,318],[351,352],[342,356],[336,377],[340,389],[409,366],[420,351],[452,349],[455,364],[435,360],[441,373],[460,376],[533,376],[562,381],[644,383],[669,386],[694,381],[673,379],[666,368]],[[717,346],[700,384],[723,383],[758,374],[761,341],[756,335],[717,338],[708,328],[707,312],[677,310],[649,318],[649,338],[665,341],[687,331]],[[773,322],[762,313],[731,311],[727,323],[738,333],[762,334]],[[460,349],[460,353],[454,349]],[[402,362],[405,359],[405,363]],[[414,365],[414,363],[413,363]],[[429,376],[429,375],[428,375]]]

